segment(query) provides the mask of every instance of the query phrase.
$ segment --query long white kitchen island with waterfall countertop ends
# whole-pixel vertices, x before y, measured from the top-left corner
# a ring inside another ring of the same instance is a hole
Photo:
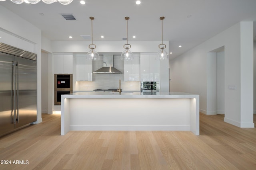
[[[181,92],[61,95],[61,135],[68,131],[192,131],[199,135],[199,95]]]

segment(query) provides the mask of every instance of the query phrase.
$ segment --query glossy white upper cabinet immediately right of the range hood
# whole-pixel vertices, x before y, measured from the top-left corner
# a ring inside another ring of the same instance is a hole
[[[124,61],[124,81],[140,81],[140,55],[133,60]]]

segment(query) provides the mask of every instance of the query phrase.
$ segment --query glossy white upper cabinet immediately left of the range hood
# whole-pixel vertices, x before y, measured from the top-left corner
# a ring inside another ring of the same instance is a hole
[[[92,81],[92,60],[86,55],[76,55],[76,81]]]

